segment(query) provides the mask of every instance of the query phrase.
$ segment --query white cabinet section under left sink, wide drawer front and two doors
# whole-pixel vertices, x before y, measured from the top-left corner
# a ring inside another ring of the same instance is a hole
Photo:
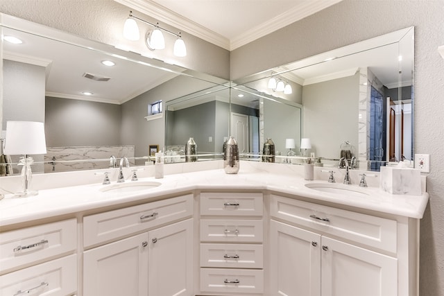
[[[193,203],[184,195],[86,216],[94,247],[83,254],[83,295],[193,295]]]

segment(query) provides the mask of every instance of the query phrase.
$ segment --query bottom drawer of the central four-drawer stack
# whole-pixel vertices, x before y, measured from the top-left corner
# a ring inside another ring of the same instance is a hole
[[[200,292],[263,293],[264,271],[200,268]]]

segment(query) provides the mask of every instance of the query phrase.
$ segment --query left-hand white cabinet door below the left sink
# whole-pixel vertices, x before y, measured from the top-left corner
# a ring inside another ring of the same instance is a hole
[[[83,295],[147,295],[147,242],[145,233],[84,252]]]

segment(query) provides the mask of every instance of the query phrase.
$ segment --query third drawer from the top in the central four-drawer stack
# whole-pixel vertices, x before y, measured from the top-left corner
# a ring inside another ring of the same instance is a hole
[[[200,267],[263,268],[262,245],[232,243],[201,243]]]

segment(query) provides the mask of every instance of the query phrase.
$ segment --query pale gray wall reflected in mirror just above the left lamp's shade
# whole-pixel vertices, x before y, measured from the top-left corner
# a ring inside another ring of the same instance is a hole
[[[44,122],[44,85],[44,67],[3,60],[3,130],[6,121]]]

